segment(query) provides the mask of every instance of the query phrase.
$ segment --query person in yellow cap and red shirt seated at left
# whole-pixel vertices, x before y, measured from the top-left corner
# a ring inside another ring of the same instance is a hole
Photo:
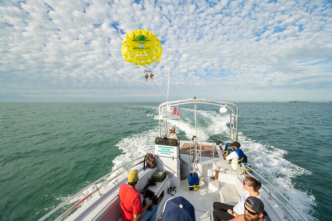
[[[120,186],[120,205],[123,221],[155,221],[157,219],[158,207],[153,205],[152,210],[147,210],[152,201],[147,200],[146,206],[142,207],[142,201],[135,185],[138,180],[138,170],[133,169],[128,173],[128,184]]]

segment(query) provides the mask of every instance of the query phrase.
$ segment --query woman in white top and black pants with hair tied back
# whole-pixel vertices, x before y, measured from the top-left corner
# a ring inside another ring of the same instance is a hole
[[[244,214],[244,204],[248,197],[254,196],[261,199],[259,189],[261,189],[262,183],[254,177],[247,176],[243,180],[243,189],[245,191],[239,198],[238,204],[235,206],[214,202],[213,203],[213,220],[230,220],[234,217]]]

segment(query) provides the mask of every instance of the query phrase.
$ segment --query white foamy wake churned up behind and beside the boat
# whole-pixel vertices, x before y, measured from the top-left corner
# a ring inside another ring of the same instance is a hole
[[[192,139],[195,131],[195,121],[187,115],[193,115],[192,109],[181,108],[182,120],[168,120],[170,125],[176,127],[180,139]],[[186,114],[190,112],[190,114]],[[204,121],[198,121],[198,140],[205,141],[212,139],[211,137],[221,138],[225,142],[230,142],[229,130],[227,123],[229,116],[220,115],[216,111],[198,110],[197,114],[202,117]],[[157,115],[157,114],[156,114]],[[201,125],[209,125],[202,127]],[[113,163],[116,168],[124,163],[143,156],[146,153],[153,153],[154,138],[157,137],[158,128],[144,131],[126,138],[123,138],[116,146],[124,152],[123,155],[115,158]],[[241,148],[248,156],[248,162],[258,170],[270,183],[272,183],[300,212],[304,214],[309,220],[317,220],[310,214],[313,212],[313,206],[316,205],[315,197],[306,190],[299,190],[294,187],[295,177],[303,174],[309,174],[310,171],[296,166],[292,162],[287,161],[284,155],[287,154],[285,150],[263,144],[246,137],[240,131],[238,133],[238,141],[241,143]],[[211,205],[212,206],[212,205]]]

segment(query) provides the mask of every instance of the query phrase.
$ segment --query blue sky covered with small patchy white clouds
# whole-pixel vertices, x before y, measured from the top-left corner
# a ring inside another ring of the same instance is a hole
[[[161,61],[124,61],[136,29]],[[170,100],[330,102],[332,2],[0,0],[0,102],[165,102],[168,73]]]

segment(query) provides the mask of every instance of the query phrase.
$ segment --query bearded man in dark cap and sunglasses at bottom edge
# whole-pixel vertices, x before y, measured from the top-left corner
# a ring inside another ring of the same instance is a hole
[[[244,214],[230,221],[271,221],[264,211],[264,203],[257,197],[250,196],[244,204]]]

